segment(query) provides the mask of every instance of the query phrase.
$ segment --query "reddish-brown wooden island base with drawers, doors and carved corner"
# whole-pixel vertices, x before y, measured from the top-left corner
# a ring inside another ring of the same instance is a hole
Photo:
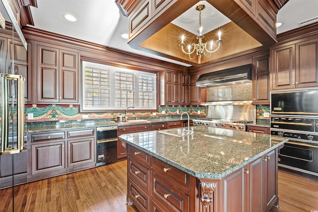
[[[205,179],[126,145],[127,204],[141,212],[269,212],[278,205],[277,149],[222,179]]]

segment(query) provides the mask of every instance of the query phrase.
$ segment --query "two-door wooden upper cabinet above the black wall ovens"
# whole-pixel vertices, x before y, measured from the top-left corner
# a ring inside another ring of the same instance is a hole
[[[270,50],[271,90],[318,86],[318,36]]]

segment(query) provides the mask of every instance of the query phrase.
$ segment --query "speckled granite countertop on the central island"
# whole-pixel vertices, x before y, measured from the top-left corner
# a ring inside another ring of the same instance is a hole
[[[175,137],[149,131],[124,134],[119,139],[195,177],[211,179],[221,179],[288,141],[214,127],[196,126],[194,132]]]

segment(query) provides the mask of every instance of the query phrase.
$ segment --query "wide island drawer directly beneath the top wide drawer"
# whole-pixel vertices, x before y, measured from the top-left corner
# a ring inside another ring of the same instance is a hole
[[[189,212],[190,197],[153,174],[153,200],[169,212]]]

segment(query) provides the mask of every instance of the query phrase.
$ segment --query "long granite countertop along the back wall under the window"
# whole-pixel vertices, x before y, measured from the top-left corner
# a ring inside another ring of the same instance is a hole
[[[143,119],[143,117],[139,117]],[[81,128],[91,128],[91,127],[108,127],[108,126],[126,126],[126,125],[137,125],[137,124],[147,124],[147,123],[158,123],[158,122],[172,122],[180,121],[180,116],[157,116],[157,117],[147,117],[147,122],[137,122],[137,123],[116,123],[114,121],[100,120],[71,120],[71,121],[56,121],[46,124],[46,122],[30,122],[26,124],[25,132],[26,133],[36,133],[36,132],[45,132],[45,131],[59,131],[59,130],[75,130]],[[131,118],[130,120],[133,120]],[[182,120],[188,120],[187,116],[184,115]],[[190,118],[191,120],[191,118]]]

